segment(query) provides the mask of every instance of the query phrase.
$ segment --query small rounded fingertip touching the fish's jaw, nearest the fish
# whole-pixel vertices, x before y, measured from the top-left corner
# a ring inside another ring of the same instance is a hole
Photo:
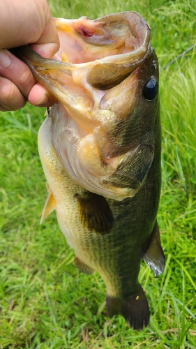
[[[42,85],[35,84],[28,96],[28,101],[38,107],[52,107],[56,103],[56,98],[52,96]]]

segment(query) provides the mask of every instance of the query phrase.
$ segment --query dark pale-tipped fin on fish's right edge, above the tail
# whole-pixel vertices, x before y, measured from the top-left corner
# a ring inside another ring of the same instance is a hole
[[[165,256],[160,244],[160,232],[157,221],[149,238],[143,259],[146,265],[152,269],[155,276],[163,273],[165,267]]]

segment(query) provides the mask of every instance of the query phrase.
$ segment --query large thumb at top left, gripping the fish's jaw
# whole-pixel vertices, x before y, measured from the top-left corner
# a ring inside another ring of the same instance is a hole
[[[0,9],[0,48],[36,43],[45,27],[46,34],[39,43],[58,43],[47,0],[0,1]]]

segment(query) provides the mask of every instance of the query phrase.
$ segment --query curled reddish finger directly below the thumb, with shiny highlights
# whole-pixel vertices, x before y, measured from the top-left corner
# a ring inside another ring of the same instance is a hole
[[[0,50],[0,75],[13,82],[26,98],[36,84],[27,65],[8,50]]]

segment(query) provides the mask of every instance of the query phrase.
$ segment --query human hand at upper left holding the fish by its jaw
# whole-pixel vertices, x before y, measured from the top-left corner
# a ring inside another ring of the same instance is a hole
[[[36,83],[31,71],[7,49],[31,44],[32,50],[51,58],[59,38],[46,0],[7,0],[0,3],[0,111],[26,104],[49,107],[56,99]]]

